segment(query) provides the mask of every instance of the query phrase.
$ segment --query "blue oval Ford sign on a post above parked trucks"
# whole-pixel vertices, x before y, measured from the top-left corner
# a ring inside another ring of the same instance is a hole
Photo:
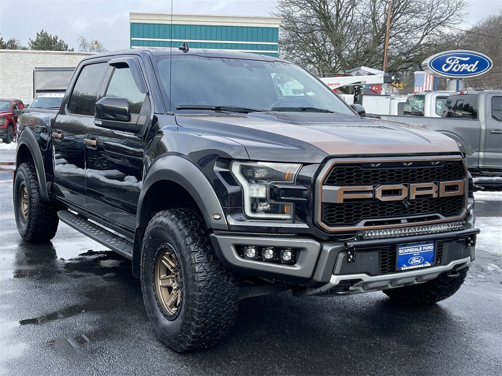
[[[492,65],[491,59],[479,52],[457,50],[428,57],[422,68],[435,76],[465,78],[486,73]]]

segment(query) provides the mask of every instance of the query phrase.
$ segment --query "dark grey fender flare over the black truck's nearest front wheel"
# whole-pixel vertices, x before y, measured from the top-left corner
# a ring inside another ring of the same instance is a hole
[[[223,208],[214,192],[214,188],[202,170],[190,160],[178,155],[166,155],[158,158],[149,168],[141,190],[137,212],[137,227],[148,226],[149,213],[144,210],[144,199],[149,188],[160,180],[168,180],[181,185],[197,203],[209,229],[228,230]],[[214,214],[221,218],[215,220]]]

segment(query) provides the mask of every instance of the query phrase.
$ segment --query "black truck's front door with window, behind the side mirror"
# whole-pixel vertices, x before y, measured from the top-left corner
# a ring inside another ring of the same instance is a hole
[[[126,98],[131,123],[146,125],[152,107],[148,95],[138,89],[131,68],[119,64],[110,69],[102,96]],[[143,179],[145,141],[135,133],[107,129],[100,123],[92,121],[86,129],[86,139],[92,140],[85,150],[87,208],[107,221],[133,230]]]

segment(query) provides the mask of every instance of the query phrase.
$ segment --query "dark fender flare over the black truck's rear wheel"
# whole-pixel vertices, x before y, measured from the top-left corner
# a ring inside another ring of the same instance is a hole
[[[47,180],[45,177],[44,161],[33,133],[27,129],[23,130],[18,140],[16,149],[16,169],[23,162],[33,162],[37,171],[38,185],[40,195],[45,201],[50,201],[47,191]]]

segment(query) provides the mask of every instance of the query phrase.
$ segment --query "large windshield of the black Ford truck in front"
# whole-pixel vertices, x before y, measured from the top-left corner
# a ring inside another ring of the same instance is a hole
[[[297,65],[245,59],[173,56],[172,103],[169,56],[156,59],[157,77],[174,111],[190,106],[242,107],[260,111],[316,111],[353,114],[329,88]],[[200,109],[200,108],[199,108]],[[193,111],[193,109],[192,109]]]

